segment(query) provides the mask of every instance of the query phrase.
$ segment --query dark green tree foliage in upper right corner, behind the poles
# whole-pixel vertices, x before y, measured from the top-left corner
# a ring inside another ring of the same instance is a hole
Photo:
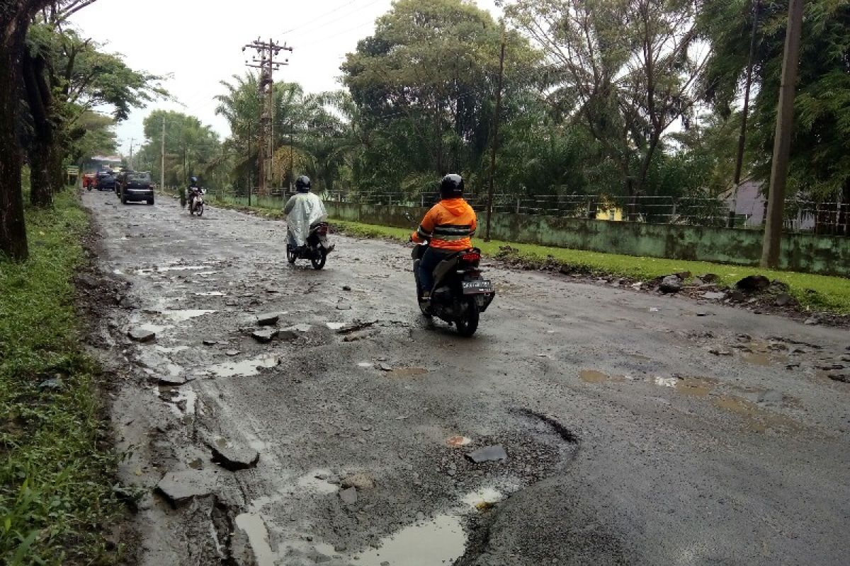
[[[749,52],[752,10],[747,0],[711,0],[700,32],[711,42],[703,78],[706,98],[722,115],[734,114]],[[798,65],[789,187],[815,199],[850,198],[850,4],[806,3]],[[754,60],[749,165],[767,182],[773,156],[776,107],[788,1],[761,3]],[[846,200],[845,200],[846,202]]]

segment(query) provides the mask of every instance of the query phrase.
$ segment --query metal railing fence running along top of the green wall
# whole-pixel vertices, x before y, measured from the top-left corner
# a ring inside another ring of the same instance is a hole
[[[244,196],[216,194],[229,202],[247,205]],[[280,208],[292,193],[286,188],[272,188],[263,196],[252,193],[251,204]],[[404,195],[381,191],[370,193],[329,192],[323,199],[361,205],[431,206],[439,193]],[[487,195],[467,194],[473,209],[487,209]],[[765,203],[758,201],[742,210],[734,200],[703,197],[673,198],[669,196],[609,196],[587,194],[539,194],[533,196],[496,193],[493,211],[502,214],[545,215],[560,218],[588,218],[606,221],[633,221],[652,224],[681,224],[705,227],[759,229],[763,226]],[[737,208],[737,210],[736,210]],[[733,210],[734,213],[733,213]],[[785,230],[850,236],[850,203],[818,203],[810,200],[785,201]]]

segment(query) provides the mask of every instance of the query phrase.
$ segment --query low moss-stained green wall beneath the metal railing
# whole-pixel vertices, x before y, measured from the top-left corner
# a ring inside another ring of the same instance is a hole
[[[411,228],[411,232],[426,212],[418,207],[332,201],[326,207],[331,218]],[[481,236],[483,215],[479,222]],[[506,242],[742,266],[757,266],[762,256],[761,232],[730,228],[495,213],[490,235]],[[795,272],[850,277],[850,238],[785,234],[779,263],[782,269]]]

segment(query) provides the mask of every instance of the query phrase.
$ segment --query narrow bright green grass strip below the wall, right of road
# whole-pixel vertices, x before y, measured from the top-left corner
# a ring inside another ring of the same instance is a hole
[[[222,199],[213,201],[213,204],[222,208],[246,210],[246,207],[243,205],[231,204]],[[282,218],[285,216],[283,211],[277,208],[252,206],[250,210],[269,218]],[[356,236],[364,238],[390,238],[401,242],[406,242],[412,232],[412,230],[405,228],[377,226],[351,221],[334,220],[333,224],[344,232]],[[481,249],[484,255],[489,255],[490,257],[499,255],[500,249],[503,246],[510,246],[517,250],[519,258],[525,261],[547,262],[548,264],[554,261],[567,272],[591,273],[599,276],[615,275],[643,281],[649,281],[656,277],[664,277],[678,272],[691,272],[694,275],[714,273],[718,277],[717,283],[722,286],[732,287],[740,279],[748,275],[764,275],[772,280],[778,279],[788,285],[788,294],[791,294],[796,302],[804,309],[808,308],[812,311],[824,311],[837,315],[850,314],[850,279],[845,277],[783,272],[760,269],[758,267],[711,263],[709,261],[682,261],[635,255],[603,254],[581,249],[553,248],[535,244],[516,244],[513,242],[501,242],[499,240],[484,242],[481,239],[476,239],[474,244]]]

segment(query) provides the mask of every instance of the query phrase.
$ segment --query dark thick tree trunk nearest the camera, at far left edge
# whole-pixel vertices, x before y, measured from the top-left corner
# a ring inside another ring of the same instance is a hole
[[[21,154],[15,132],[20,107],[20,57],[24,53],[25,10],[0,3],[0,253],[14,261],[29,255],[20,192]]]

